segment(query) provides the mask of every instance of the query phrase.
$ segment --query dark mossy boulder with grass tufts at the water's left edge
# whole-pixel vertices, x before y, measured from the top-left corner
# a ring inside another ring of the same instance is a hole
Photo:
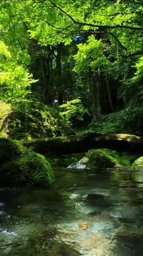
[[[0,187],[34,184],[47,187],[55,181],[46,158],[12,139],[0,139]]]

